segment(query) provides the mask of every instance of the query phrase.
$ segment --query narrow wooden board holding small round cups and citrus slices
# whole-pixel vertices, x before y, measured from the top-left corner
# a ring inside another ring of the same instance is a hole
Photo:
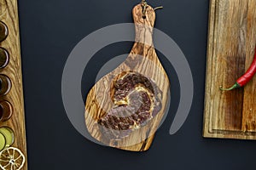
[[[20,59],[20,31],[18,18],[18,5],[16,0],[0,0],[0,20],[9,28],[9,36],[0,42],[9,52],[9,64],[0,70],[1,74],[7,75],[12,82],[9,94],[1,96],[1,100],[8,100],[13,106],[13,116],[7,122],[0,122],[0,127],[11,127],[15,131],[14,147],[20,149],[26,156],[26,130],[24,99],[21,75]],[[27,169],[27,164],[22,170]]]

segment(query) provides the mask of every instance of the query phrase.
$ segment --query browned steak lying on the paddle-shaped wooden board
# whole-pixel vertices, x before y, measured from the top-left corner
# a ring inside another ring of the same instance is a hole
[[[120,140],[145,126],[162,108],[162,92],[137,72],[128,72],[114,82],[113,108],[98,124],[107,139]]]

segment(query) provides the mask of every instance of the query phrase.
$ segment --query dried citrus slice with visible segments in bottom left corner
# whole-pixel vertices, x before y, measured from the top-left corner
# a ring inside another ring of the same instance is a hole
[[[23,153],[14,147],[9,147],[0,152],[0,167],[3,170],[20,170],[25,163]]]

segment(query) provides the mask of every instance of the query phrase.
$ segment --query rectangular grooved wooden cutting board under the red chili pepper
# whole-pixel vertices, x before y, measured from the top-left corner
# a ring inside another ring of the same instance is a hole
[[[256,139],[256,78],[230,87],[253,61],[255,0],[211,0],[208,31],[204,137]]]

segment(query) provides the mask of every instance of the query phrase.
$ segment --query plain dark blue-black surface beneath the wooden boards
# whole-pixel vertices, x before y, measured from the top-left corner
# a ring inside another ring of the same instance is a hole
[[[253,168],[254,141],[203,139],[202,120],[207,54],[207,0],[148,0],[157,11],[155,27],[177,42],[187,57],[194,82],[194,102],[187,121],[169,134],[177,111],[177,75],[160,55],[172,83],[169,115],[147,152],[134,153],[93,144],[69,122],[61,99],[61,75],[75,45],[92,31],[132,22],[131,9],[139,0],[26,0],[19,1],[20,38],[26,105],[28,165],[45,169],[241,169]],[[132,42],[103,48],[84,71],[84,98],[101,66],[127,54]]]

